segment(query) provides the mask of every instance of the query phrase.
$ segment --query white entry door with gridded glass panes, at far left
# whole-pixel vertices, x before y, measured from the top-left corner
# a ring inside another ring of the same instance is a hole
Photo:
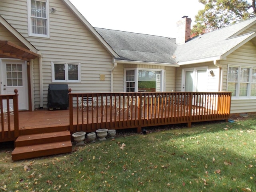
[[[23,60],[3,59],[1,68],[1,94],[15,94],[18,90],[19,110],[28,110],[27,66]],[[10,107],[13,108],[12,102]]]

